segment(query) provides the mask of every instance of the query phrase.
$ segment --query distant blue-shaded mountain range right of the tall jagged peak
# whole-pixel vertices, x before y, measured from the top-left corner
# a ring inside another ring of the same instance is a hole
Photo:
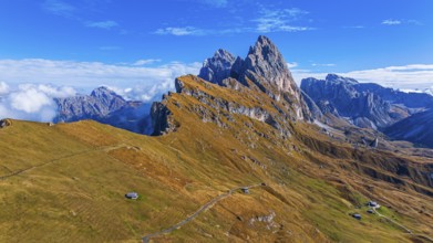
[[[305,78],[301,89],[312,101],[308,105],[316,119],[331,115],[358,127],[381,130],[393,139],[433,147],[427,138],[433,128],[433,119],[429,119],[433,96],[429,94],[400,92],[336,74],[326,80]]]

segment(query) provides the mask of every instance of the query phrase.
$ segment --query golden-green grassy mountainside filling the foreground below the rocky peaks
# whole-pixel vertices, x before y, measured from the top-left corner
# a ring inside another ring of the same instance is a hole
[[[238,94],[190,77],[184,82],[276,113],[260,93]],[[235,122],[221,118],[227,128],[203,123],[198,106],[217,110],[190,96],[173,94],[167,106],[181,127],[161,137],[94,122],[50,127],[13,120],[0,129],[0,176],[28,169],[0,180],[0,231],[6,232],[0,242],[137,242],[230,188],[262,181],[268,187],[235,193],[155,241],[409,242],[401,229],[358,208],[370,198],[391,207],[383,214],[432,235],[432,198],[413,190],[415,182],[406,178],[406,184],[395,186],[353,169],[365,161],[308,125],[293,125],[295,136],[281,140],[270,126],[240,115]],[[375,158],[379,151],[362,152]],[[369,166],[386,173],[378,165]],[[127,191],[141,198],[128,201]],[[353,220],[353,212],[364,218]],[[272,213],[271,221],[257,221]]]

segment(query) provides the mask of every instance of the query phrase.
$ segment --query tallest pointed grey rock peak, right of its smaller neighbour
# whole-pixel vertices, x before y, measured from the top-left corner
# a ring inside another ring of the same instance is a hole
[[[285,59],[277,46],[264,35],[260,35],[256,44],[249,49],[245,60],[245,70],[265,77],[282,92],[299,96],[299,91]]]

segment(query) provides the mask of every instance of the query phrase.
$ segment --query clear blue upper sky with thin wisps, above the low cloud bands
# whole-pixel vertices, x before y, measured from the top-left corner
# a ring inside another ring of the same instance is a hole
[[[192,63],[218,47],[244,56],[266,34],[313,71],[432,63],[432,10],[431,0],[6,0],[0,59]]]

